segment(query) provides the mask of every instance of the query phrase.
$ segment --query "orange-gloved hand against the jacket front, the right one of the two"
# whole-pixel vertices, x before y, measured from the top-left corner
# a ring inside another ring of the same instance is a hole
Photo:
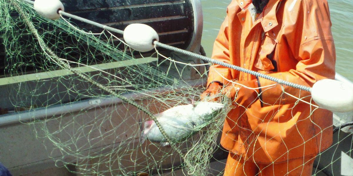
[[[238,81],[228,84],[222,94],[232,100],[238,106],[249,107],[258,98],[257,80]],[[254,89],[255,88],[255,89]]]

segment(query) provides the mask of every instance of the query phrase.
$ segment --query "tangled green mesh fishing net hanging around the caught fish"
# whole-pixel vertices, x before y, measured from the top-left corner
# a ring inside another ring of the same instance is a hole
[[[74,165],[69,169],[84,175],[223,174],[210,161],[227,153],[217,141],[232,107],[226,98],[217,99],[225,108],[190,137],[167,140],[167,146],[140,139],[144,122],[156,118],[151,114],[199,101],[205,64],[158,54],[135,58],[124,42],[116,44],[118,34],[84,31],[70,19],[48,20],[24,2],[0,0],[0,7],[10,99],[15,111],[45,112],[21,122],[34,126],[58,166]]]

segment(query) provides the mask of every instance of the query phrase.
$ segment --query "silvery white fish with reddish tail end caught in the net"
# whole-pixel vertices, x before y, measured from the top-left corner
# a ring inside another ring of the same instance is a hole
[[[182,105],[170,108],[162,113],[156,114],[168,137],[175,142],[191,136],[201,130],[207,123],[219,114],[223,104],[213,102],[195,102],[192,105]],[[151,142],[169,145],[157,127],[155,121],[146,121],[142,127],[141,143],[146,139]]]

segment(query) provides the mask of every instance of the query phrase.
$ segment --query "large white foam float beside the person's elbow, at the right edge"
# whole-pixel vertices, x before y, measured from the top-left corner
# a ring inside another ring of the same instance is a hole
[[[317,81],[312,87],[311,96],[321,108],[333,112],[353,111],[353,88],[341,81]]]

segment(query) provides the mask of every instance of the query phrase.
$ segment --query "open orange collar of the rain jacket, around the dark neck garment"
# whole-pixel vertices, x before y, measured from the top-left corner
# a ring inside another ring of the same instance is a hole
[[[236,0],[241,9],[246,8],[249,5],[250,0]],[[282,0],[269,0],[264,11],[259,15],[258,20],[261,21],[262,28],[264,32],[268,32],[274,27],[278,26],[278,21],[276,17],[278,5]]]

